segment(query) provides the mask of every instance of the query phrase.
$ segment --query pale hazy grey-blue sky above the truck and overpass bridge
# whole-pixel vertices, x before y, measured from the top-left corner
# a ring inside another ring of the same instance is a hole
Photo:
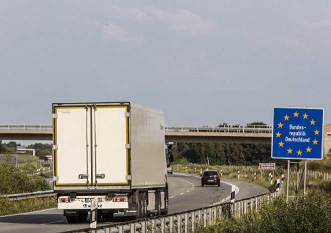
[[[168,124],[331,122],[330,0],[0,0],[0,122],[131,101]]]

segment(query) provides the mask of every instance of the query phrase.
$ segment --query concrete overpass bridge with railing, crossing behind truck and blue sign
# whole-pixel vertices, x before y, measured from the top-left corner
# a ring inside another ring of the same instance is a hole
[[[52,124],[0,123],[0,140],[52,140]],[[165,141],[271,144],[268,125],[165,125]],[[324,125],[323,151],[331,148],[331,124]]]

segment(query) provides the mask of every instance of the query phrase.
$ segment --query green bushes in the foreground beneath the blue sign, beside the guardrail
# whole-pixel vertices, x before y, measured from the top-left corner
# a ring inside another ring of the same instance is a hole
[[[306,198],[288,204],[279,198],[259,212],[226,218],[197,232],[331,232],[331,194],[315,189]]]

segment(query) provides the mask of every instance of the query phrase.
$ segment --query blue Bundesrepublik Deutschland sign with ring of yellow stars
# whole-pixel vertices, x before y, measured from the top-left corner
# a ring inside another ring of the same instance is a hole
[[[271,157],[323,158],[323,108],[274,107]]]

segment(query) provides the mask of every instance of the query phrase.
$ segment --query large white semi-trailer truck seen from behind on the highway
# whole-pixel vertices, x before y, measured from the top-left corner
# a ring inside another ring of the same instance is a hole
[[[131,102],[53,103],[54,191],[68,222],[168,213],[162,111]]]

